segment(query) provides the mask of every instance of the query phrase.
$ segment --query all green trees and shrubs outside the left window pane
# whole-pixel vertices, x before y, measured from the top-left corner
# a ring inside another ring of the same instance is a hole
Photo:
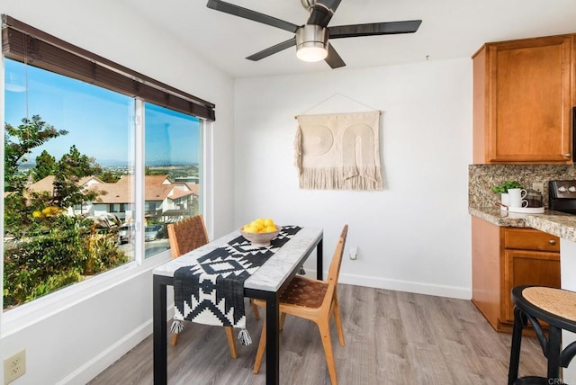
[[[55,176],[52,192],[25,188],[28,175],[18,171],[26,155],[49,139],[66,135],[34,115],[4,133],[4,308],[125,264],[129,257],[116,245],[114,231],[98,231],[92,220],[69,217],[67,208],[95,201],[98,193],[78,185],[81,178],[102,174],[92,157],[72,146],[58,163],[43,151],[31,170],[35,180]],[[84,191],[83,191],[84,190]]]

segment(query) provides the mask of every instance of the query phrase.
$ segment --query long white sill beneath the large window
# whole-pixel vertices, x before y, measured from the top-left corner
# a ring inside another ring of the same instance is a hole
[[[165,264],[170,259],[170,251],[167,250],[167,252],[145,259],[140,265],[135,261],[124,264],[84,282],[77,282],[38,300],[20,305],[15,309],[6,310],[0,315],[0,337],[10,336],[26,327],[30,327],[122,282],[130,281],[130,279],[142,273],[151,271],[158,265]]]

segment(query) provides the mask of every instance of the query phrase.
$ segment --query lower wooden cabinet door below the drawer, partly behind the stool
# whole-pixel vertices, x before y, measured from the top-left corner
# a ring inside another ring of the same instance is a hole
[[[560,288],[560,254],[541,251],[506,250],[503,260],[500,320],[514,322],[512,288],[519,285],[542,285]]]

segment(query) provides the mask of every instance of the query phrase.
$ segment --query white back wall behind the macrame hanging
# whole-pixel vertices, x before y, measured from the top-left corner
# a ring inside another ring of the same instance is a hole
[[[324,228],[327,270],[348,223],[347,250],[357,246],[358,259],[344,260],[341,282],[472,297],[470,58],[238,79],[235,94],[238,227],[270,217]],[[366,106],[383,112],[384,190],[300,190],[294,116]]]

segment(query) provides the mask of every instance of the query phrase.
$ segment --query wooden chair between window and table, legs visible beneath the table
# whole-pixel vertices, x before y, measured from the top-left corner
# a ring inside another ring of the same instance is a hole
[[[172,259],[192,251],[200,246],[206,245],[208,241],[208,232],[202,215],[186,218],[175,223],[168,225],[168,238],[170,240],[170,250],[172,252]],[[252,305],[254,315],[260,319],[260,314],[256,305]],[[236,342],[234,340],[233,327],[224,327],[228,345],[232,358],[237,358],[238,353],[236,350]],[[178,341],[178,334],[172,334],[172,345],[176,345]]]

